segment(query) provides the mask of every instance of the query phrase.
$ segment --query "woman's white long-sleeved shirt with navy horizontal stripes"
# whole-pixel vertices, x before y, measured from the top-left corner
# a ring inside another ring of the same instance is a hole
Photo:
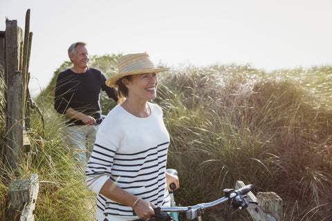
[[[100,124],[86,170],[86,182],[98,194],[97,220],[108,214],[137,218],[130,206],[99,194],[108,179],[156,206],[169,206],[165,180],[169,134],[161,108],[148,104],[149,117],[135,117],[117,105]]]

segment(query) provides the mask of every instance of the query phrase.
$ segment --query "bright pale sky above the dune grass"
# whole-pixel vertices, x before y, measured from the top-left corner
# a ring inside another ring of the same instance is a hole
[[[28,8],[33,95],[69,60],[75,41],[90,55],[148,52],[171,68],[332,64],[331,0],[0,0],[0,30],[6,17],[24,29]]]

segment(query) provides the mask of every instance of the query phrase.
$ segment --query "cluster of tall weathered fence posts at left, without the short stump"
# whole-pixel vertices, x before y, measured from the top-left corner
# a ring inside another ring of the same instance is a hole
[[[24,157],[24,119],[29,98],[28,73],[32,33],[29,32],[30,10],[26,12],[26,30],[17,21],[6,19],[4,45],[4,81],[6,83],[6,159],[12,170]]]

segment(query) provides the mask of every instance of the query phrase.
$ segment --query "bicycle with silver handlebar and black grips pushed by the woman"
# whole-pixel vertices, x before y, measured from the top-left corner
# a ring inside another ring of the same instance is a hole
[[[175,170],[170,171],[170,172],[173,174],[175,173],[175,175],[177,174],[177,172]],[[170,185],[170,188],[175,189],[175,187],[172,188],[171,185]],[[174,184],[174,186],[175,186],[175,184]],[[230,202],[230,207],[234,208],[235,211],[233,211],[232,213],[230,213],[230,215],[228,215],[228,218],[226,219],[226,221],[227,221],[237,211],[239,211],[241,209],[246,209],[250,203],[257,204],[257,202],[253,202],[253,201],[246,202],[246,200],[244,200],[246,198],[247,193],[252,191],[252,189],[254,189],[254,186],[252,184],[248,184],[246,186],[243,186],[241,189],[237,189],[237,190],[223,189],[223,193],[225,195],[223,198],[219,198],[218,200],[214,200],[213,202],[196,204],[194,206],[172,206],[172,205],[175,205],[174,198],[173,198],[173,192],[172,192],[172,193],[170,193],[170,194],[172,194],[171,195],[171,206],[154,208],[155,214],[152,215],[154,217],[153,220],[155,220],[155,221],[175,220],[172,217],[172,214],[176,215],[176,218],[177,218],[178,213],[185,212],[187,220],[202,221],[202,215],[203,215],[205,209],[210,208],[212,206],[216,206],[217,204],[220,204],[222,202],[228,201],[228,202]]]

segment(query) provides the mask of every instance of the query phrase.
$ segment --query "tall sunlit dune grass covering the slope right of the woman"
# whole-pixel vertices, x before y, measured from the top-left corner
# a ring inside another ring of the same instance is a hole
[[[213,200],[236,180],[279,194],[286,220],[331,201],[331,108],[313,88],[248,66],[190,68],[161,82],[181,204]]]

